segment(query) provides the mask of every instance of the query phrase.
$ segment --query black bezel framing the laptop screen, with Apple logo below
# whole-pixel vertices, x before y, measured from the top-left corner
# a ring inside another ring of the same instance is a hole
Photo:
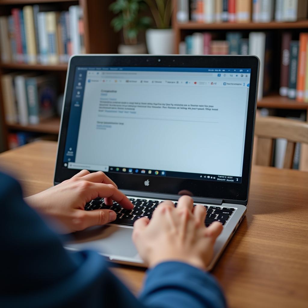
[[[255,123],[257,82],[259,60],[255,56],[185,56],[185,55],[76,55],[69,61],[65,86],[64,106],[61,118],[61,128],[58,140],[57,161],[55,166],[54,184],[59,184],[78,173],[80,170],[63,167],[64,148],[66,143],[68,120],[71,108],[71,96],[76,67],[223,67],[223,68],[250,68],[250,86],[247,107],[247,121],[245,133],[244,159],[242,183],[226,183],[205,180],[191,180],[174,177],[151,176],[142,174],[125,174],[105,172],[120,189],[146,193],[162,193],[170,195],[182,194],[188,191],[192,196],[241,201],[247,204],[251,173],[253,150],[253,133]],[[192,153],[197,150],[197,144],[188,144]],[[164,150],[164,155],[174,155],[176,149]],[[227,151],[226,151],[227,153]],[[150,180],[151,185],[145,186],[144,181]]]

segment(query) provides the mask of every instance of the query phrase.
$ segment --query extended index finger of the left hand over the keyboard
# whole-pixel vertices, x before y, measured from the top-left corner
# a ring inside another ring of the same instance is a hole
[[[128,200],[128,197],[115,188],[113,184],[91,183],[89,187],[93,196],[96,195],[101,198],[110,198],[111,200],[118,202],[124,209],[132,209],[134,207],[132,202]]]

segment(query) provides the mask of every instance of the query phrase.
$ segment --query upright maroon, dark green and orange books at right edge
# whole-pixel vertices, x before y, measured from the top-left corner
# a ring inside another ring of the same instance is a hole
[[[308,33],[300,33],[299,41],[289,32],[282,34],[279,94],[308,103]]]

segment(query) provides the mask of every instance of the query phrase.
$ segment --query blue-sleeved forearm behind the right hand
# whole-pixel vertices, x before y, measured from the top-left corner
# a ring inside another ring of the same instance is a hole
[[[164,308],[226,306],[210,274],[181,262],[164,262],[149,270],[140,301],[147,307]]]

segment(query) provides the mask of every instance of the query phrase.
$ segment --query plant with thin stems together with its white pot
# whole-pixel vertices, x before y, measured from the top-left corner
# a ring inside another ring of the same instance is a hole
[[[149,54],[168,55],[174,53],[174,32],[170,28],[172,16],[171,0],[144,0],[152,12],[156,29],[146,31]]]

